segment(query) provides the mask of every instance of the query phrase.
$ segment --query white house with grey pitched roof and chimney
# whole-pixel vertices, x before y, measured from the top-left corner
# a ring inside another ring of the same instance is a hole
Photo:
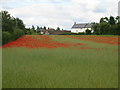
[[[89,30],[91,30],[91,32],[93,32],[92,26],[93,25],[90,23],[76,24],[76,22],[75,22],[71,28],[71,32],[72,33],[84,33],[87,29],[89,29]]]

